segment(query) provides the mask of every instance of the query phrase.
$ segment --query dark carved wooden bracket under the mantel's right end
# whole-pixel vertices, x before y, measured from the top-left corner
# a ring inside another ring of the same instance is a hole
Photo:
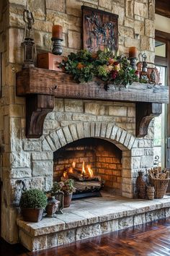
[[[138,102],[135,105],[136,137],[148,134],[148,125],[151,120],[162,113],[161,103]]]

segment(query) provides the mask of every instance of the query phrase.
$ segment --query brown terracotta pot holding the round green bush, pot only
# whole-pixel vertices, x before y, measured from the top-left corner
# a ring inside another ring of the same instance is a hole
[[[24,221],[39,222],[42,220],[43,209],[22,208]]]

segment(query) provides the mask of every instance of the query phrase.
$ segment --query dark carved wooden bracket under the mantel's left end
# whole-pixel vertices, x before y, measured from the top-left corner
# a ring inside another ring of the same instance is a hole
[[[53,95],[31,94],[26,97],[26,137],[42,136],[43,124],[48,113],[54,108]]]

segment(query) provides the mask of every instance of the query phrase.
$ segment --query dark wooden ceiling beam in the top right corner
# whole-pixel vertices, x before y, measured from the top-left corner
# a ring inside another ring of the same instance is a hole
[[[170,18],[170,0],[156,0],[156,14]]]

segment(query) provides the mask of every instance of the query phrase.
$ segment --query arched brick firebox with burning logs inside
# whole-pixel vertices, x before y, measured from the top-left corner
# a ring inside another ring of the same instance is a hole
[[[121,160],[122,151],[107,140],[76,140],[55,151],[53,179],[74,179],[74,197],[99,195],[100,189],[121,195]]]

